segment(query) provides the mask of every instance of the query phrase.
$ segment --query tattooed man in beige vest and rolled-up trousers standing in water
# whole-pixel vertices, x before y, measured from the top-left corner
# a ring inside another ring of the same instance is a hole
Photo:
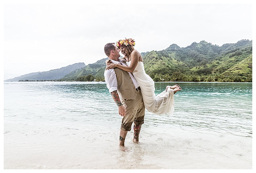
[[[112,63],[126,65],[119,61],[119,49],[115,43],[107,43],[104,51]],[[119,145],[124,146],[125,137],[127,132],[131,131],[132,123],[134,123],[133,142],[139,142],[141,125],[144,123],[145,116],[145,106],[139,84],[131,73],[118,68],[105,70],[104,76],[109,93],[118,106],[118,113],[123,117]]]

